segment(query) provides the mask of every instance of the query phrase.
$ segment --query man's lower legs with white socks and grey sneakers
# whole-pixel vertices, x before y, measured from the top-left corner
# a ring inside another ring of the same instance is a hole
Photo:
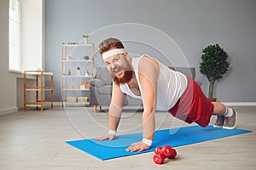
[[[217,115],[217,120],[213,127],[223,127],[233,129],[236,127],[236,111],[219,102],[212,102],[214,105],[213,115]]]

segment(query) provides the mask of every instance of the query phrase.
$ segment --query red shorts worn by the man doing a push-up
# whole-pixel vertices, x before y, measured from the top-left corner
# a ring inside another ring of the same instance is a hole
[[[184,122],[196,122],[201,127],[207,127],[213,113],[213,105],[198,84],[188,77],[187,89],[169,112]]]

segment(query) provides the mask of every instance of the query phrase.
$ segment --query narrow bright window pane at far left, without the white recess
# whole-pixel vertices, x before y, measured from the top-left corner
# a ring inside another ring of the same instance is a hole
[[[20,0],[9,0],[9,70],[21,71]]]

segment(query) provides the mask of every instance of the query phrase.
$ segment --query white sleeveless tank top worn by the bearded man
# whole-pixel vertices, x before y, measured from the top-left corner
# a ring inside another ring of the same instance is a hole
[[[135,70],[138,86],[141,91],[141,96],[133,94],[128,84],[120,84],[121,91],[124,94],[130,95],[135,99],[143,99],[143,91],[138,76],[138,64],[139,60],[143,58],[142,55],[139,58],[132,59],[132,65]],[[182,96],[183,92],[188,86],[188,80],[181,72],[172,71],[166,65],[159,62],[160,74],[157,80],[157,111],[169,111],[177,103],[177,100]]]

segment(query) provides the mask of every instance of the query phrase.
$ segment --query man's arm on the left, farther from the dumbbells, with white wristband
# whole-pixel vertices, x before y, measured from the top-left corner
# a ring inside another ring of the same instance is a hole
[[[109,105],[109,133],[102,137],[96,138],[96,140],[112,140],[116,137],[116,131],[119,126],[119,121],[123,109],[123,102],[124,102],[125,95],[122,93],[119,85],[116,85],[113,82],[113,89],[112,89],[112,99]]]

